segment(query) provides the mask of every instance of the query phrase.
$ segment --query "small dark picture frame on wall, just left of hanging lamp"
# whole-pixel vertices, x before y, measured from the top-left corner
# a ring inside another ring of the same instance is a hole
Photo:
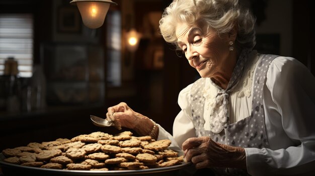
[[[60,7],[58,9],[58,33],[81,33],[81,26],[81,16],[77,8]]]

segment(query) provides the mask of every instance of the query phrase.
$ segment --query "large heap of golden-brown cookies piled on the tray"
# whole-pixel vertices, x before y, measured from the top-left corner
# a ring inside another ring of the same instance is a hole
[[[82,134],[71,139],[31,142],[2,151],[5,162],[69,170],[133,170],[182,164],[183,156],[169,148],[171,140],[133,136],[124,131]]]

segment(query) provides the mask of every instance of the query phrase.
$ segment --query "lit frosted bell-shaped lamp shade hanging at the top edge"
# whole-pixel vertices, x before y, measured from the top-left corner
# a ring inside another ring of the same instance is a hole
[[[110,0],[73,0],[70,4],[77,6],[85,26],[96,29],[103,25],[110,4],[116,3]]]

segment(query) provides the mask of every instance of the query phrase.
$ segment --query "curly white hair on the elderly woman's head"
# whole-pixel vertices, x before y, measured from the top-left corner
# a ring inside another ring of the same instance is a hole
[[[177,45],[176,25],[204,21],[218,34],[230,32],[237,25],[235,42],[241,48],[254,48],[255,21],[252,13],[239,5],[238,0],[174,0],[160,20],[160,32],[166,42]]]

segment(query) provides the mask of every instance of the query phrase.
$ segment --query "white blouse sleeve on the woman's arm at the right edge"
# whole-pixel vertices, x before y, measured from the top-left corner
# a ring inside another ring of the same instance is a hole
[[[271,96],[270,102],[265,100],[266,93]],[[273,141],[277,142],[274,149],[245,148],[251,175],[315,173],[314,102],[315,78],[302,63],[289,57],[272,61],[264,88],[264,106],[274,104],[274,108],[265,109],[265,114],[279,114],[268,117],[278,121],[273,127],[276,129],[270,129],[266,120],[266,129],[275,131]]]

